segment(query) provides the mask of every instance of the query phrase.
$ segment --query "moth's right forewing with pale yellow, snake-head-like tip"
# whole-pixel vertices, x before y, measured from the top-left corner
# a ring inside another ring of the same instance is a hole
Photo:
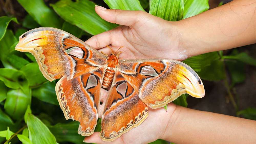
[[[153,109],[165,106],[184,93],[198,98],[205,95],[200,77],[180,61],[119,60],[118,69],[140,99]]]

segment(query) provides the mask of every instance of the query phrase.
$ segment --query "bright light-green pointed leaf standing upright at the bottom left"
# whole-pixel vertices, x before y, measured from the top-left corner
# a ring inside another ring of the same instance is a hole
[[[56,138],[36,116],[29,114],[28,120],[29,139],[32,143],[57,143]]]

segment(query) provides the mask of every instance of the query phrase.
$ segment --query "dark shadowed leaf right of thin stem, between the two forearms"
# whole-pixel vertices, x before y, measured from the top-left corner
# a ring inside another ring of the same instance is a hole
[[[231,77],[231,87],[237,83],[245,81],[246,73],[245,64],[243,62],[237,60],[227,60],[225,61],[225,64],[227,65]]]

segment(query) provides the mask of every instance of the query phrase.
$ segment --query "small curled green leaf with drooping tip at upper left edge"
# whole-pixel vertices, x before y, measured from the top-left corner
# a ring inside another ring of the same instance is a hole
[[[7,17],[7,16],[0,17],[0,41],[4,37],[6,29],[9,25],[10,21],[12,21],[12,20],[15,21],[16,23],[18,23],[17,19],[14,17]]]

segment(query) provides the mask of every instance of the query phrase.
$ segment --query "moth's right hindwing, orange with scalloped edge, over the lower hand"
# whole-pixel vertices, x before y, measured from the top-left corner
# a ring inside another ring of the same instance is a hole
[[[113,141],[130,129],[139,126],[147,116],[147,105],[117,71],[101,120],[101,138],[104,141]]]

